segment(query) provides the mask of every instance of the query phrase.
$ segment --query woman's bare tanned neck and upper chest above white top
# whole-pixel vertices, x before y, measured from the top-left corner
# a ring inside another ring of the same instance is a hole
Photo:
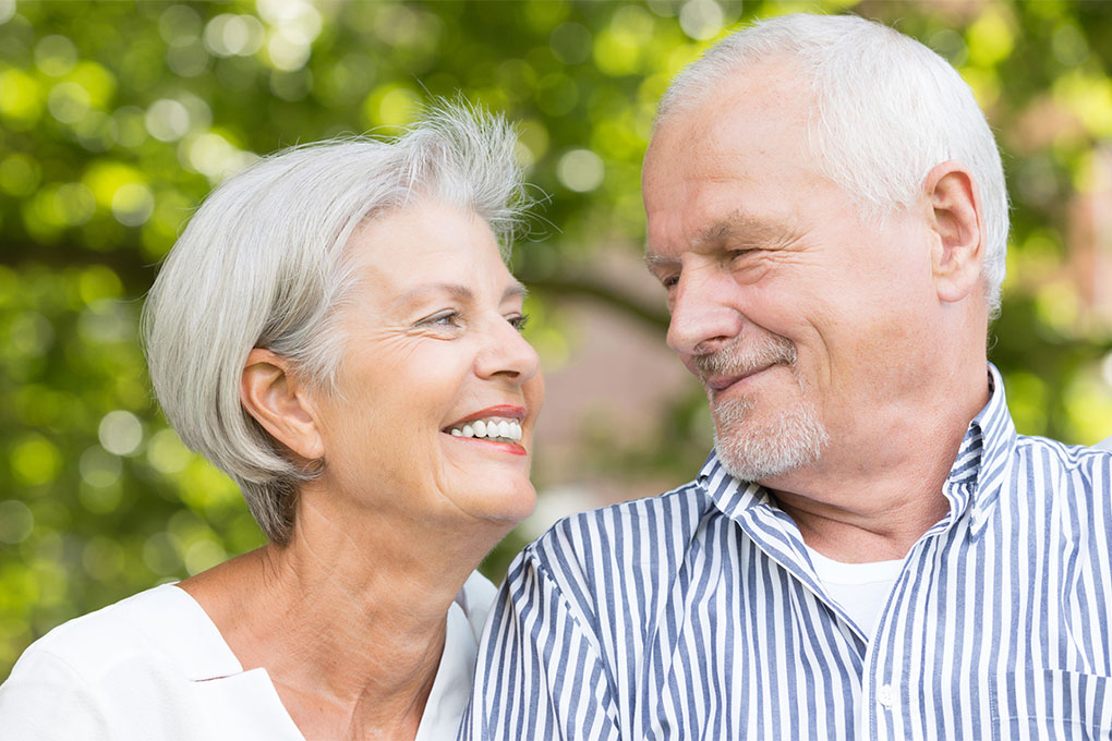
[[[502,533],[340,523],[302,507],[289,544],[181,583],[244,670],[265,667],[306,739],[413,739],[464,581]],[[477,530],[486,530],[478,525]],[[375,735],[377,733],[377,735]]]

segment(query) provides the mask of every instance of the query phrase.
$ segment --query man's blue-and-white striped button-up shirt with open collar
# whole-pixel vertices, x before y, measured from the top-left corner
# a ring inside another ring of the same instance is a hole
[[[712,453],[558,522],[492,610],[460,739],[1112,739],[1112,453],[970,423],[868,641]]]

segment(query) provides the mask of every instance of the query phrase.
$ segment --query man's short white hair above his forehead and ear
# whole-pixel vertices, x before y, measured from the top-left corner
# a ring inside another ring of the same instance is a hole
[[[1000,152],[973,91],[919,41],[855,16],[783,16],[726,37],[688,66],[661,101],[656,126],[705,102],[762,61],[794,61],[816,107],[808,147],[822,173],[872,218],[910,206],[931,169],[970,169],[985,223],[984,283],[990,316],[1000,310],[1009,201]]]

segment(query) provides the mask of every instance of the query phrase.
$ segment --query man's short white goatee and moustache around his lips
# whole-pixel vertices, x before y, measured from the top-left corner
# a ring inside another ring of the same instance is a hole
[[[795,346],[780,336],[768,336],[756,344],[739,349],[735,342],[712,354],[699,356],[694,364],[701,377],[738,375],[772,363],[787,366],[795,372]],[[798,379],[796,379],[798,383]],[[802,387],[801,387],[802,392]],[[714,447],[718,460],[734,478],[763,481],[782,475],[818,460],[830,435],[813,405],[803,400],[777,410],[765,410],[765,419],[752,419],[762,403],[753,397],[714,400],[707,392],[714,417]],[[763,400],[768,404],[768,400]]]

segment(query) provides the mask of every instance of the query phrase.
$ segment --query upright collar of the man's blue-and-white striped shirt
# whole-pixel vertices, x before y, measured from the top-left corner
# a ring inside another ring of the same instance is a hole
[[[1015,424],[1007,411],[1004,383],[1000,371],[989,363],[989,402],[977,412],[965,430],[957,457],[950,469],[943,493],[951,503],[951,519],[939,523],[952,524],[973,505],[971,531],[979,534],[1004,483],[1010,478],[1012,451],[1015,449]],[[771,503],[772,497],[761,484],[739,481],[731,475],[712,450],[696,478],[715,505],[728,518]]]

